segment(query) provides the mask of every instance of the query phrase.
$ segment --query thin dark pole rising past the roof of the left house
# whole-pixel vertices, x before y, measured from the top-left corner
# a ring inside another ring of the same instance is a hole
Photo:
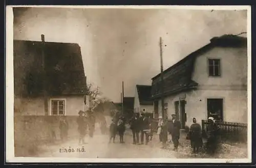
[[[42,69],[43,69],[43,85],[44,85],[44,104],[45,104],[45,115],[48,116],[48,97],[47,97],[47,86],[46,86],[46,66],[45,66],[45,35],[41,35],[42,41]]]

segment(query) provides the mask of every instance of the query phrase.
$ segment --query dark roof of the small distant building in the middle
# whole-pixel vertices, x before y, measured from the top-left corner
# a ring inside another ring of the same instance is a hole
[[[139,102],[141,105],[153,105],[151,100],[151,86],[136,85]]]

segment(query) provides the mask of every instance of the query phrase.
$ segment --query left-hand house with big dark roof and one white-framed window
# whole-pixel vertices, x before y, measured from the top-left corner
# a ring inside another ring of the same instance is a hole
[[[22,115],[46,115],[46,91],[48,115],[78,115],[78,111],[84,109],[87,90],[80,46],[57,42],[45,42],[45,45],[40,41],[13,42],[16,111]]]

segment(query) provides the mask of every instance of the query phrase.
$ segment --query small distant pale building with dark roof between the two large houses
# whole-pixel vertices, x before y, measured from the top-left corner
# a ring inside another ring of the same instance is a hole
[[[136,85],[134,112],[135,113],[152,113],[153,101],[151,100],[151,86]]]

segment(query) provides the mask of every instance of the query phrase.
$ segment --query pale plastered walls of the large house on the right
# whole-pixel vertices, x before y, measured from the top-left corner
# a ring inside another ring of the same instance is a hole
[[[208,76],[208,58],[221,60],[221,76]],[[198,89],[164,99],[168,103],[167,114],[175,113],[175,101],[186,94],[186,125],[195,117],[198,123],[207,119],[207,98],[223,98],[223,120],[247,122],[247,49],[216,47],[197,57],[192,79],[199,83]],[[161,100],[159,100],[161,116]]]

